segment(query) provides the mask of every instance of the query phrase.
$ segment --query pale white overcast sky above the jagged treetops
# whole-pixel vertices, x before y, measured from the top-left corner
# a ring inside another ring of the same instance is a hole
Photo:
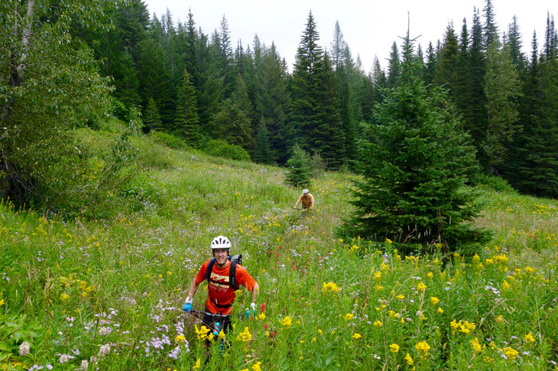
[[[236,48],[252,45],[254,36],[265,45],[275,42],[278,52],[292,70],[296,49],[308,22],[308,13],[317,24],[319,42],[330,47],[335,21],[339,22],[343,38],[351,49],[354,60],[361,57],[363,69],[372,68],[374,56],[386,67],[393,41],[400,45],[400,36],[407,33],[407,13],[410,16],[410,35],[417,38],[423,50],[428,42],[436,45],[443,40],[448,22],[453,22],[460,34],[463,18],[470,30],[474,7],[481,10],[485,0],[144,0],[151,17],[158,19],[169,9],[176,22],[186,22],[188,9],[192,11],[197,27],[206,34],[220,28],[223,15]],[[533,31],[536,31],[539,49],[543,46],[547,13],[558,16],[556,0],[492,0],[499,33],[508,30],[513,15],[518,17],[524,51],[531,52]]]

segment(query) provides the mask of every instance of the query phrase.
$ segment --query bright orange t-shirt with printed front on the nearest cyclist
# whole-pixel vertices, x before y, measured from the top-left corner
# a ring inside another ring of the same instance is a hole
[[[207,267],[209,266],[210,260],[204,262],[202,267],[199,269],[196,275],[196,282],[202,283],[207,279]],[[225,268],[219,268],[217,264],[213,265],[213,269],[211,269],[211,280],[217,281],[218,283],[209,281],[209,285],[207,287],[207,291],[209,296],[206,300],[206,307],[211,313],[221,313],[223,315],[228,315],[231,313],[232,306],[229,307],[218,307],[216,304],[221,306],[227,306],[229,304],[234,303],[234,298],[236,294],[232,287],[228,284],[229,283],[229,270],[231,267],[231,262],[227,260],[227,266]],[[256,281],[246,268],[242,267],[241,265],[236,265],[236,272],[234,274],[234,279],[236,280],[236,285],[243,285],[248,289],[248,291],[252,291]]]

